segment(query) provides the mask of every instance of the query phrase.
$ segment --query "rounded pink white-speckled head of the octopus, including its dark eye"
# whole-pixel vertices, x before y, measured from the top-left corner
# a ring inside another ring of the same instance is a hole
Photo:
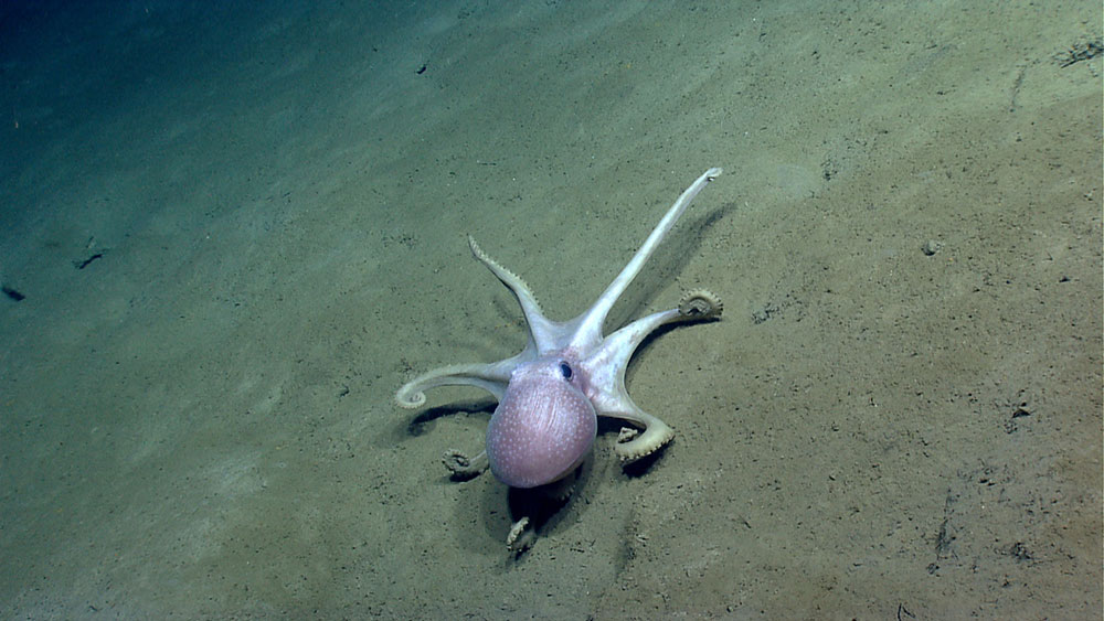
[[[487,427],[495,477],[512,488],[558,481],[594,443],[597,416],[575,362],[552,355],[519,365]]]

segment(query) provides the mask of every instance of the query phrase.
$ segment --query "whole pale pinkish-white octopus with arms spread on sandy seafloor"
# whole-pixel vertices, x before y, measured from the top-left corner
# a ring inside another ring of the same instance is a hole
[[[454,477],[476,477],[489,467],[495,478],[510,488],[542,489],[550,495],[566,496],[572,478],[591,453],[597,417],[627,424],[614,445],[623,464],[651,456],[671,441],[675,431],[629,397],[625,371],[637,346],[657,328],[720,318],[720,300],[698,289],[689,291],[678,307],[637,319],[612,334],[603,335],[604,324],[614,303],[694,196],[720,174],[721,169],[711,168],[694,180],[591,308],[570,321],[546,318],[529,286],[468,236],[471,254],[506,285],[521,307],[528,342],[521,353],[506,360],[429,371],[407,382],[395,395],[401,407],[415,409],[425,405],[429,388],[468,385],[498,400],[487,426],[486,449],[473,458],[455,450],[445,454],[445,465]],[[510,549],[530,545],[528,525],[529,516],[514,522],[507,537]]]

